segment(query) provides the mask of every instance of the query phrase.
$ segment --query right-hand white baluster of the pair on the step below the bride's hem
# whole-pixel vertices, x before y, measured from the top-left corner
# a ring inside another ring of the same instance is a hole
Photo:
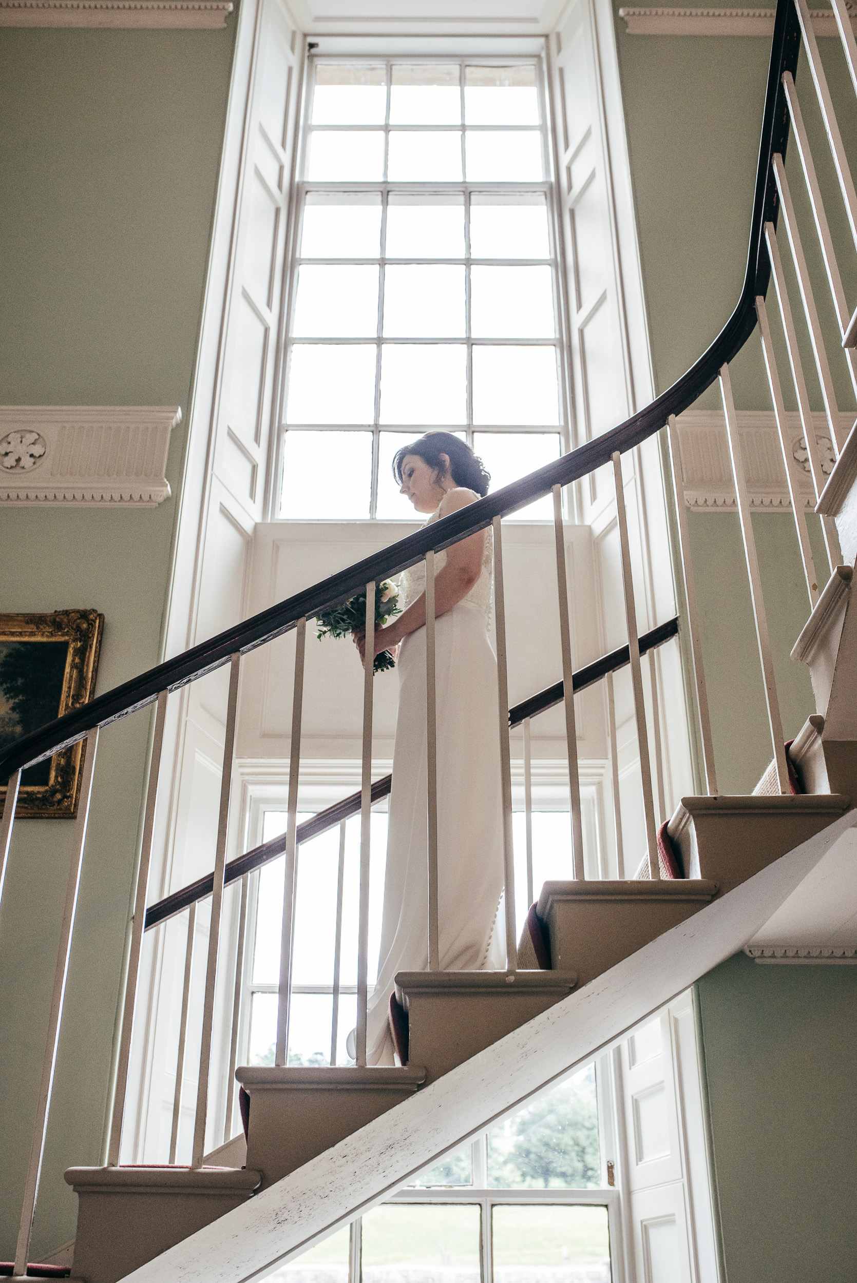
[[[217,822],[217,848],[214,852],[214,889],[212,892],[212,921],[208,931],[208,961],[205,965],[205,998],[203,1003],[203,1034],[199,1048],[199,1082],[196,1085],[196,1117],[194,1120],[194,1151],[191,1166],[201,1168],[205,1153],[205,1123],[208,1119],[208,1071],[212,1062],[212,1029],[214,1026],[214,989],[217,985],[217,953],[221,943],[223,913],[223,870],[226,867],[226,838],[230,826],[230,795],[232,790],[232,758],[235,756],[235,722],[239,708],[239,676],[241,656],[230,658],[230,694],[226,706],[226,734],[223,736],[223,770],[221,774],[221,807]]]

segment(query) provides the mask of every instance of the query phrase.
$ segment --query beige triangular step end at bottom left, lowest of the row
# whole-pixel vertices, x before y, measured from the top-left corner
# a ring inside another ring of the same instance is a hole
[[[246,1191],[78,1189],[77,1197],[72,1274],[86,1283],[117,1283],[250,1196]]]

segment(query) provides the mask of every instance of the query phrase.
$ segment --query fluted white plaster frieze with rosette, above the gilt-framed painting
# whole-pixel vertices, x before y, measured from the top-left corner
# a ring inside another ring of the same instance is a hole
[[[178,405],[0,405],[0,503],[154,508]]]

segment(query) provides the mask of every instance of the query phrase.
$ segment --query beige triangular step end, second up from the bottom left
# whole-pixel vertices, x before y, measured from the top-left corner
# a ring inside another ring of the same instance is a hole
[[[262,1188],[339,1144],[394,1106],[414,1088],[254,1087],[250,1092],[248,1166],[262,1173]]]

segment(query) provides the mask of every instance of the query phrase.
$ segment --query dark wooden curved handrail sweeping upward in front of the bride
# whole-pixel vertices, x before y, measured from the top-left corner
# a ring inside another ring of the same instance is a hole
[[[208,642],[150,668],[131,681],[98,695],[87,704],[32,731],[0,754],[0,780],[14,771],[51,757],[76,743],[95,726],[106,726],[121,717],[153,703],[162,690],[176,690],[219,668],[235,652],[246,653],[273,640],[295,626],[300,618],[313,618],[331,606],[353,597],[371,580],[396,575],[426,556],[489,526],[494,517],[508,516],[532,500],[550,493],[554,485],[568,485],[609,463],[613,452],[625,453],[659,431],[671,414],[688,409],[717,378],[721,366],[740,352],[756,327],[754,302],[765,295],[770,264],[763,250],[762,228],[776,225],[779,195],[772,177],[771,159],[785,155],[789,114],[783,90],[783,73],[797,72],[801,49],[801,27],[792,0],[779,0],[774,24],[774,44],[768,68],[762,137],[756,173],[756,191],[751,221],[749,250],[744,285],[735,310],[708,350],[676,382],[649,405],[632,414],[618,427],[588,441],[554,463],[531,472],[494,494],[462,508],[449,517],[427,526],[407,539],[355,562],[346,570],[296,593],[277,606],[254,615]],[[703,146],[703,140],[699,142]]]

